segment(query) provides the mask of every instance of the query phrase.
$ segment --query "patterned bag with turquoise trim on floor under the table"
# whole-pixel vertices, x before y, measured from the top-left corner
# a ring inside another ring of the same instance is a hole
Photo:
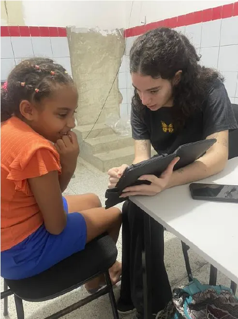
[[[175,288],[157,319],[238,319],[238,298],[230,288],[202,285],[197,279]]]

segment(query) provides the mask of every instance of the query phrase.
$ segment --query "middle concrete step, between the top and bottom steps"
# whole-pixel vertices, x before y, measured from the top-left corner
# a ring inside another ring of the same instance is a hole
[[[134,141],[130,136],[120,136],[117,134],[110,134],[98,136],[91,139],[86,139],[82,145],[82,151],[89,154],[98,154],[117,150],[119,148],[133,146]],[[84,150],[83,150],[84,149]]]

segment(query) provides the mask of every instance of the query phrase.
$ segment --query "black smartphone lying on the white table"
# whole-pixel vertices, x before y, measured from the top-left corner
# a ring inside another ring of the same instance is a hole
[[[193,199],[238,203],[238,185],[192,183],[189,188]]]

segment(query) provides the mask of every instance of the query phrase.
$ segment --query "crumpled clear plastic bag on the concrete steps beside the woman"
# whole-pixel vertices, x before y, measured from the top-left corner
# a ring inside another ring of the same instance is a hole
[[[106,118],[105,125],[119,134],[120,136],[132,136],[130,118],[119,118],[116,114],[109,114]]]

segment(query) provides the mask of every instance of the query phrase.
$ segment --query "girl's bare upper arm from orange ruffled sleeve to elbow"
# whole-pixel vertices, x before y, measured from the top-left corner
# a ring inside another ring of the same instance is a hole
[[[63,208],[58,171],[29,178],[28,182],[42,213],[46,230],[59,235],[66,226],[67,217]]]

